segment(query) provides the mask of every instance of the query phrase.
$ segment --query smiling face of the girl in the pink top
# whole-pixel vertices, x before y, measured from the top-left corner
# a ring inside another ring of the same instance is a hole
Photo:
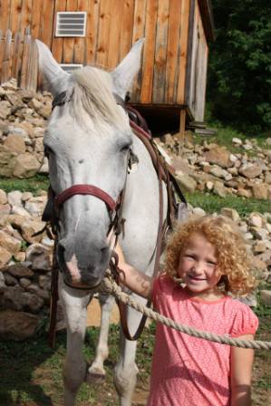
[[[178,275],[189,295],[208,300],[218,296],[218,256],[216,248],[200,233],[193,233],[179,256]]]

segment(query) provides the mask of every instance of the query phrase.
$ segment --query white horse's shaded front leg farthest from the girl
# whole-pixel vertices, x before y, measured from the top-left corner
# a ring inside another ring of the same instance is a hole
[[[64,406],[73,406],[75,396],[84,381],[87,364],[83,359],[87,305],[90,295],[63,285],[60,276],[60,299],[67,324],[67,351],[63,366]]]

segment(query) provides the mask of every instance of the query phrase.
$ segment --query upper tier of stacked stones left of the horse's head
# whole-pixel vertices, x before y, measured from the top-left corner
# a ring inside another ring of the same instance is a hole
[[[43,142],[51,111],[48,92],[17,89],[15,80],[0,86],[0,176],[31,178],[48,172]]]

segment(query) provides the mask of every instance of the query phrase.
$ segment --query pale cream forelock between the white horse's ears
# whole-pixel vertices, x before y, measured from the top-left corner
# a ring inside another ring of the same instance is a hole
[[[123,127],[123,115],[112,94],[110,73],[92,66],[77,69],[73,72],[72,92],[73,97],[69,104],[77,120],[82,122],[85,111],[95,125],[106,121]]]

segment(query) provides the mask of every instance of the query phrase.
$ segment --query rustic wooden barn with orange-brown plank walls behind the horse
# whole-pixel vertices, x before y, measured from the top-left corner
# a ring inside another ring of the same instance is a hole
[[[147,116],[159,111],[180,131],[185,122],[204,120],[214,37],[209,0],[0,0],[1,35],[11,30],[14,38],[26,27],[68,70],[82,64],[111,70],[145,37],[131,103]]]

